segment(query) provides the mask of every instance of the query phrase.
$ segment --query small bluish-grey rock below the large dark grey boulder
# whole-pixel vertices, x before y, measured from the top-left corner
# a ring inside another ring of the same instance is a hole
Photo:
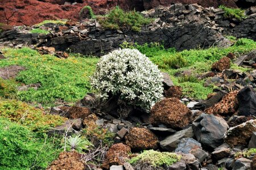
[[[182,152],[183,154],[189,154],[191,150],[196,148],[202,148],[201,143],[197,142],[193,138],[183,138],[181,139],[179,145],[175,149],[175,152]]]

